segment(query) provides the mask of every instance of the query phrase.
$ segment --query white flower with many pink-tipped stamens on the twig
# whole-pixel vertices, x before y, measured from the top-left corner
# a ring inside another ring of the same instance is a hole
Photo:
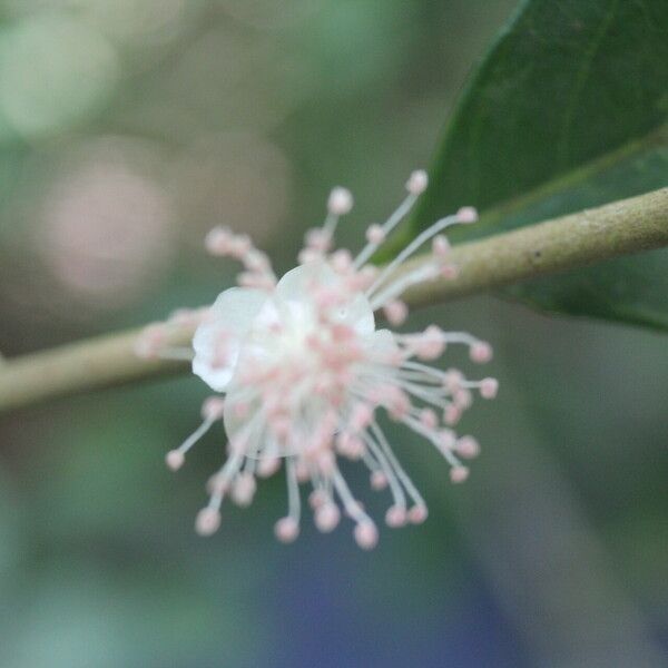
[[[352,207],[350,193],[335,189],[325,224],[306,235],[301,264],[278,282],[268,258],[247,237],[224,228],[208,235],[210,252],[237,258],[245,271],[240,287],[223,292],[208,311],[179,314],[180,320],[199,323],[193,338],[194,373],[225,394],[225,400],[205,402],[203,424],[167,454],[169,466],[178,469],[193,444],[223,419],[227,460],[209,481],[209,504],[196,522],[200,533],[218,528],[225,497],[249,504],[256,479],[273,475],[283,464],[288,512],[276,523],[278,539],[297,537],[299,484],[311,483],[316,527],[333,530],[343,509],[355,523],[357,543],[372,548],[376,525],[353,497],[340,458],[363,462],[373,489],[390,489],[390,527],[424,521],[426,505],[390,445],[381,412],[432,443],[450,464],[453,482],[466,479],[462,459],[475,456],[479,446],[472,436],[458,436],[452,426],[471,404],[472,392],[492,399],[497,381],[469,381],[458,371],[443,372],[424,362],[439,357],[449,344],[468,345],[474,362],[487,362],[490,346],[433,325],[395,334],[376,328],[374,317],[382,310],[391,324],[401,324],[407,308],[400,297],[407,287],[454,274],[449,244],[440,233],[454,223],[473,222],[471,208],[435,223],[386,267],[367,264],[425,187],[426,175],[413,173],[407,197],[383,225],[369,227],[367,244],[356,258],[346,250],[330,252],[338,216]],[[431,257],[405,271],[404,262],[432,239]],[[144,354],[183,356],[165,341],[165,332],[153,326],[139,348]]]

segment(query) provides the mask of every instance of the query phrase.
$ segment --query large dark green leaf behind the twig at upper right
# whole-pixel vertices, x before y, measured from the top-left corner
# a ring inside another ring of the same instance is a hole
[[[413,232],[462,205],[483,216],[454,240],[661,187],[667,117],[666,0],[527,0],[463,92]],[[668,252],[503,292],[544,310],[668,328]]]

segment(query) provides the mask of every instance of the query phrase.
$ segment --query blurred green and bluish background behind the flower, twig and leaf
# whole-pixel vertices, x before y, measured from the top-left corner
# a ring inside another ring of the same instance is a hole
[[[0,2],[2,354],[212,302],[237,271],[203,252],[215,224],[289,268],[336,184],[354,247],[513,4]],[[276,544],[278,477],[197,538],[222,430],[178,477],[163,460],[196,379],[3,416],[0,667],[668,665],[666,338],[491,297],[428,322],[494,343],[501,392],[462,425],[466,485],[396,430],[431,514],[371,553],[308,520]]]

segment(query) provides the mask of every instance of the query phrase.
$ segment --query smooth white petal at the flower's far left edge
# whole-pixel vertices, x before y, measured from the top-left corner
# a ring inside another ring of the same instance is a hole
[[[193,337],[193,373],[212,390],[223,392],[227,387],[244,337],[267,299],[267,293],[263,291],[232,287],[218,295],[209,317],[197,327]],[[220,336],[229,337],[226,341],[228,355],[224,365],[215,364]]]

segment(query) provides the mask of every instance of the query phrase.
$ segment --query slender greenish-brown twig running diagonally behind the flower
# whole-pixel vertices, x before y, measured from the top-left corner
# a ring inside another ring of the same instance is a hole
[[[436,304],[666,245],[668,188],[455,246],[458,276],[414,287],[405,299],[412,306]],[[177,338],[190,334],[184,330]],[[187,370],[184,363],[139,360],[136,336],[112,334],[7,360],[0,367],[0,412]]]

